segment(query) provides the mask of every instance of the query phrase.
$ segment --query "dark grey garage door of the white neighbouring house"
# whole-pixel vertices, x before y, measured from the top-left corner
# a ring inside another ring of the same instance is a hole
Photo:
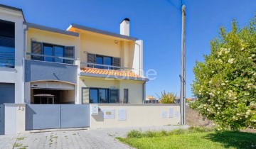
[[[0,83],[0,104],[15,103],[14,83]]]

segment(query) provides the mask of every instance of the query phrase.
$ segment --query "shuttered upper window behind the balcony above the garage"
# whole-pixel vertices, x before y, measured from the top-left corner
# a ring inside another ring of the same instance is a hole
[[[32,48],[31,51],[33,54],[55,56],[55,57],[42,57],[42,56],[32,55],[31,56],[32,60],[43,60],[47,62],[60,62],[60,63],[73,64],[73,60],[64,60],[64,59],[58,58],[58,57],[74,58],[75,47],[73,46],[53,45],[53,44],[38,43],[33,41],[31,48]]]

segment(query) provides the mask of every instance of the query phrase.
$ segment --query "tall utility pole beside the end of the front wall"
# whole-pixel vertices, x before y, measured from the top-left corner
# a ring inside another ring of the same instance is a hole
[[[180,96],[180,106],[181,106],[181,125],[186,124],[186,82],[185,82],[185,5],[181,8],[182,14],[182,31],[181,31],[181,96]]]

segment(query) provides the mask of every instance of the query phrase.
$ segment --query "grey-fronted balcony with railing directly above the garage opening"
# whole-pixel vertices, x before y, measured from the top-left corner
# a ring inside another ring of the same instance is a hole
[[[25,60],[26,82],[59,81],[77,84],[78,60],[75,58],[33,53],[27,55],[31,55],[32,60]]]

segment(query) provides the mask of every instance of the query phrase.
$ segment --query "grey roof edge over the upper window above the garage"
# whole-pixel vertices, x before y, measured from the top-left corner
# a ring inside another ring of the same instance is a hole
[[[38,29],[38,30],[42,30],[42,31],[49,31],[49,32],[53,32],[53,33],[60,33],[60,34],[63,34],[63,35],[71,35],[71,36],[75,36],[75,37],[79,37],[79,33],[75,33],[75,32],[72,32],[72,31],[65,31],[65,30],[61,30],[61,29],[58,29],[58,28],[51,28],[51,27],[48,27],[48,26],[41,26],[41,25],[38,25],[38,24],[34,24],[34,23],[23,23],[25,24],[28,28],[35,28],[35,29]]]

